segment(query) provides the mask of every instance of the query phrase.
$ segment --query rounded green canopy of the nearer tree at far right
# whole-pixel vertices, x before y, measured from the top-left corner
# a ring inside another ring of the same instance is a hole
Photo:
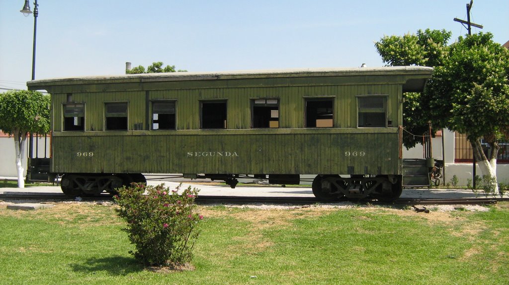
[[[480,32],[450,45],[422,98],[439,125],[490,144],[509,130],[509,51],[492,38]]]

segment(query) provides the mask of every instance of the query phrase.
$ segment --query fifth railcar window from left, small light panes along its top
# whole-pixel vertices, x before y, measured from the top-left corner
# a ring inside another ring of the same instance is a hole
[[[279,103],[277,99],[252,100],[251,114],[253,128],[279,127]]]

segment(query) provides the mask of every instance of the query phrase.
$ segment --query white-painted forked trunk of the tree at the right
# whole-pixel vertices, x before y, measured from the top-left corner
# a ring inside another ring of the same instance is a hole
[[[490,144],[492,152],[488,158],[483,151],[482,145],[480,144],[480,139],[472,139],[470,140],[470,144],[472,145],[475,160],[477,161],[480,171],[483,174],[484,183],[489,185],[490,189],[493,191],[493,194],[497,194],[497,156],[500,147],[496,141]],[[486,177],[489,177],[488,181],[486,181]]]

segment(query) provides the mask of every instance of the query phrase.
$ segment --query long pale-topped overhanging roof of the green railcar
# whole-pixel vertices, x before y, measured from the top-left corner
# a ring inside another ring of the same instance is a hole
[[[123,83],[123,82],[156,82],[156,81],[190,81],[221,80],[250,78],[285,78],[285,77],[318,77],[318,76],[389,76],[389,75],[429,75],[432,67],[424,66],[386,66],[356,68],[298,68],[273,70],[237,70],[231,72],[176,72],[126,74],[93,77],[69,77],[33,80],[27,82],[29,89],[54,85],[74,85],[90,83]]]

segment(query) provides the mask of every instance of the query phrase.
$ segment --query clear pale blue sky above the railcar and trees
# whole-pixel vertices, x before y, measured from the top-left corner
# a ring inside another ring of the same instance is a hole
[[[34,9],[31,0],[31,9]],[[382,66],[384,35],[467,30],[469,0],[39,0],[36,79],[124,74],[154,61],[190,72]],[[32,76],[34,17],[0,0],[0,88]],[[473,32],[509,40],[509,1],[474,0]],[[0,89],[0,91],[2,91]]]

